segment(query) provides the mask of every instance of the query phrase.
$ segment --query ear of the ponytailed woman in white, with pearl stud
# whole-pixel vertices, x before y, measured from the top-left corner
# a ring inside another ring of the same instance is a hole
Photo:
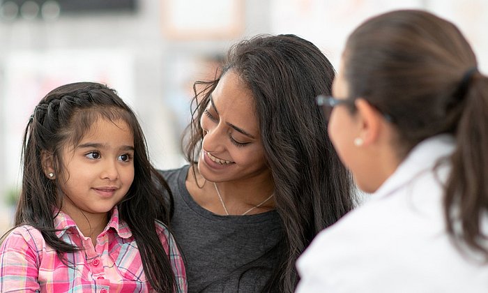
[[[358,110],[357,117],[360,119],[360,135],[358,139],[362,141],[364,146],[378,142],[383,123],[381,113],[363,98],[357,98],[354,104]]]

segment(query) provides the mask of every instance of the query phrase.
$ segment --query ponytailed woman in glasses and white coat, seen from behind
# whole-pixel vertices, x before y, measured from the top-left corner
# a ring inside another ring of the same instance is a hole
[[[462,33],[420,10],[373,17],[333,95],[317,98],[330,138],[372,194],[298,259],[297,292],[488,292],[488,78]]]

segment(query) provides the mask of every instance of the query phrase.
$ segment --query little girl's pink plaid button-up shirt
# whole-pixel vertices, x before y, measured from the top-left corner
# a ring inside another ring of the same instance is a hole
[[[31,226],[15,228],[0,248],[0,292],[150,292],[137,244],[119,211],[98,235],[97,245],[83,236],[75,222],[63,212],[54,218],[56,235],[77,247],[67,253],[70,266],[63,264],[56,250],[47,246],[40,232]],[[187,292],[185,266],[174,238],[165,225],[156,223],[176,277],[176,292]],[[74,267],[73,267],[74,264]]]

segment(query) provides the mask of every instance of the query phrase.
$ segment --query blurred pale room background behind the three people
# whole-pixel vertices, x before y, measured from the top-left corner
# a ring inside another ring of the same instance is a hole
[[[422,8],[455,22],[488,68],[487,0],[0,0],[0,233],[12,225],[22,133],[33,107],[61,84],[108,84],[135,110],[153,164],[185,164],[181,133],[195,80],[258,33],[295,33],[337,68],[367,17]]]

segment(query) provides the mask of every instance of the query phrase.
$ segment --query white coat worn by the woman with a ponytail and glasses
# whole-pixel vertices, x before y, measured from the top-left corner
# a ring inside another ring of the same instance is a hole
[[[445,230],[436,178],[449,166],[432,169],[454,148],[448,135],[421,142],[370,200],[321,232],[298,259],[296,292],[487,293],[488,265],[459,253]]]

